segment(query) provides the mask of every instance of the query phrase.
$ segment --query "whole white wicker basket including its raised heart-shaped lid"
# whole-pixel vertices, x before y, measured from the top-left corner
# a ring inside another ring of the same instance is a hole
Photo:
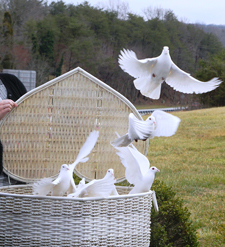
[[[97,145],[89,161],[75,171],[86,180],[102,178],[113,168],[118,181],[124,168],[110,145],[126,133],[128,115],[141,116],[118,92],[84,70],[74,69],[18,100],[0,125],[4,171],[23,182],[56,177],[72,163],[93,129]],[[135,143],[146,153],[146,142]],[[37,197],[31,185],[0,188],[0,246],[149,246],[152,192],[69,199]]]

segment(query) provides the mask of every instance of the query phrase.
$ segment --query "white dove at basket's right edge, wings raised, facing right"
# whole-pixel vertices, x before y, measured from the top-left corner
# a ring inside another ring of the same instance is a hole
[[[134,146],[117,147],[121,163],[126,168],[125,177],[134,188],[129,194],[148,192],[155,179],[155,173],[160,172],[155,166],[150,167],[146,156],[140,153]]]

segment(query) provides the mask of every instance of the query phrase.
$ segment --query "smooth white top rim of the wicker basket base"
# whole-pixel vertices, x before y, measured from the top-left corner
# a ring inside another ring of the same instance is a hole
[[[113,199],[124,199],[124,198],[132,198],[132,197],[144,197],[147,195],[153,195],[155,193],[154,190],[149,190],[148,192],[143,193],[137,193],[137,194],[125,194],[125,195],[115,195],[115,196],[109,196],[109,197],[84,197],[84,198],[70,198],[65,196],[37,196],[37,195],[21,195],[21,194],[13,194],[13,193],[5,193],[1,192],[4,188],[23,188],[23,187],[29,187],[32,186],[32,184],[23,184],[23,185],[9,185],[9,186],[2,186],[0,187],[0,197],[16,197],[16,198],[33,198],[33,199],[45,199],[45,200],[69,200],[69,201],[79,201],[79,202],[86,202],[86,201],[101,201],[101,200],[113,200]],[[124,188],[127,186],[116,186],[117,188]]]

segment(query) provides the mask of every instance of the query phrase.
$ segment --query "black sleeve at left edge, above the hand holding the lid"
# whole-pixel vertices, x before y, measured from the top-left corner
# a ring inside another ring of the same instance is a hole
[[[7,98],[17,101],[27,90],[23,83],[12,74],[0,73],[0,80],[7,90]]]

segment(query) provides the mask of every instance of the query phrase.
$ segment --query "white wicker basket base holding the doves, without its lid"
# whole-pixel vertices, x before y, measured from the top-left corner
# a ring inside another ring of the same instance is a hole
[[[82,201],[22,196],[30,190],[29,185],[0,189],[0,246],[150,244],[151,192]]]

